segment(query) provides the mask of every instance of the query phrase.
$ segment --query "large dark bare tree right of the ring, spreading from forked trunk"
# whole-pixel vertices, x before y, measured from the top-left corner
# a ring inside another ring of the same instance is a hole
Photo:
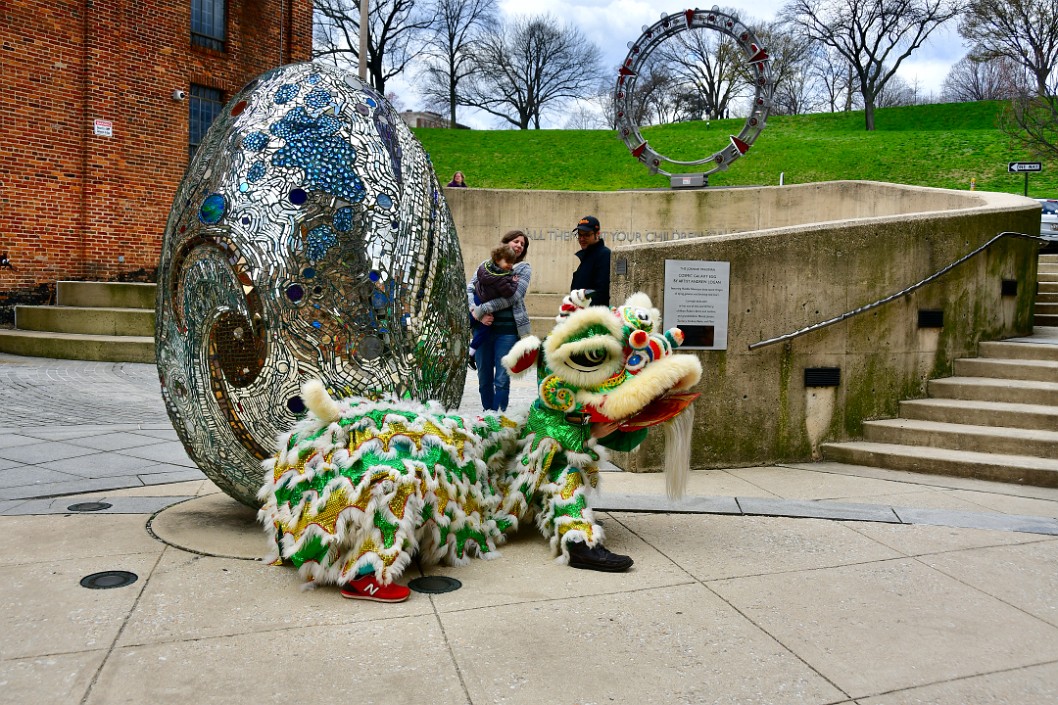
[[[959,13],[957,0],[790,0],[783,17],[836,51],[856,74],[863,121],[904,59]]]

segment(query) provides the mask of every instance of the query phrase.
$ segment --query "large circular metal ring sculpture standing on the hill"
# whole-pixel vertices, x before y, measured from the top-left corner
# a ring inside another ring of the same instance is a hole
[[[726,34],[738,44],[746,62],[753,72],[753,102],[749,116],[742,131],[731,135],[730,144],[704,159],[694,161],[678,161],[669,159],[651,148],[639,132],[639,126],[633,121],[632,96],[635,93],[639,70],[646,58],[662,42],[670,37],[690,30],[715,30]],[[697,166],[712,164],[712,168],[703,171],[708,176],[714,171],[726,169],[731,162],[745,155],[756,137],[764,129],[771,107],[771,76],[768,70],[768,54],[760,40],[737,17],[719,12],[715,5],[712,10],[687,10],[679,15],[662,15],[661,19],[651,26],[643,28],[643,34],[634,43],[628,44],[628,55],[618,69],[617,88],[614,104],[617,107],[617,130],[632,156],[646,165],[651,174],[673,176],[665,165]],[[670,167],[671,168],[671,167]],[[681,174],[682,175],[682,174]]]

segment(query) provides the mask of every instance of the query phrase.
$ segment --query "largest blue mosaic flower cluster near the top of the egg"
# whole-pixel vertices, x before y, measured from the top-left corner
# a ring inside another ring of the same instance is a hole
[[[332,115],[312,116],[302,106],[294,108],[269,128],[287,142],[272,156],[272,164],[304,169],[306,191],[359,203],[365,191],[354,168],[357,150],[338,134],[341,127]]]

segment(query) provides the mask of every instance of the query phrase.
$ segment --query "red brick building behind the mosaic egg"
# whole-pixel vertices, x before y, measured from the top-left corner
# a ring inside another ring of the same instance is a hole
[[[311,0],[0,3],[0,304],[152,272],[196,133],[311,44]]]

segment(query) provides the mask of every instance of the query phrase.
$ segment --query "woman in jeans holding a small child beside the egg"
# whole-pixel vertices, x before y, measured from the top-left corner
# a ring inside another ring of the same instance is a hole
[[[519,338],[529,335],[525,304],[532,276],[532,268],[525,261],[529,237],[512,230],[500,242],[506,248],[496,248],[467,285],[467,304],[475,326],[469,362],[477,368],[477,391],[486,411],[507,410],[511,378],[500,360]],[[512,255],[513,261],[509,261]]]

